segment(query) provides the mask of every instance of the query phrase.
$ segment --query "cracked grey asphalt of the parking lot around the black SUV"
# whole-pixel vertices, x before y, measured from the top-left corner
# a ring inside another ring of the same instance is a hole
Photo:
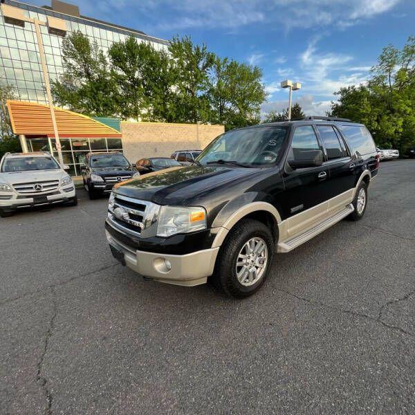
[[[2,414],[415,412],[415,160],[243,301],[111,257],[107,199],[0,220]]]

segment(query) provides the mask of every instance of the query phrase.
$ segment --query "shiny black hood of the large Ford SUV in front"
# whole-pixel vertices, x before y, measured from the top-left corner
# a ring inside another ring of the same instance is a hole
[[[115,185],[118,194],[160,205],[183,205],[186,199],[252,175],[257,169],[228,166],[172,167]]]

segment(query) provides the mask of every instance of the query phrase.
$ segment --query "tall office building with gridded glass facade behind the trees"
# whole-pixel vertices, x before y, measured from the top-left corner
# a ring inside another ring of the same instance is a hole
[[[134,36],[139,42],[151,42],[154,48],[167,46],[167,41],[145,35],[138,30],[124,28],[80,15],[77,6],[52,0],[52,7],[31,6],[19,1],[5,0],[4,3],[23,10],[27,17],[46,21],[49,17],[63,19],[66,33],[80,30],[84,35],[98,43],[104,53],[113,42],[120,42]],[[41,26],[42,40],[46,55],[50,81],[62,73],[62,36],[48,33]],[[24,101],[46,103],[46,92],[42,75],[39,50],[37,48],[34,25],[26,22],[24,27],[5,22],[0,16],[0,83],[12,86],[16,98]]]

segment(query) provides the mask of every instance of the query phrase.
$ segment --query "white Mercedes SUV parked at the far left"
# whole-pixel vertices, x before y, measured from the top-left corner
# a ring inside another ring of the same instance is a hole
[[[49,153],[6,153],[0,162],[0,216],[19,208],[66,203],[76,205],[72,178]]]

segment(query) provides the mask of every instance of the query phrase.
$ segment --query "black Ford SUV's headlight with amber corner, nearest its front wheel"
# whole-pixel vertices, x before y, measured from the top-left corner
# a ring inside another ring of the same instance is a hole
[[[157,221],[157,236],[169,237],[177,233],[206,229],[206,211],[203,208],[162,206]]]

